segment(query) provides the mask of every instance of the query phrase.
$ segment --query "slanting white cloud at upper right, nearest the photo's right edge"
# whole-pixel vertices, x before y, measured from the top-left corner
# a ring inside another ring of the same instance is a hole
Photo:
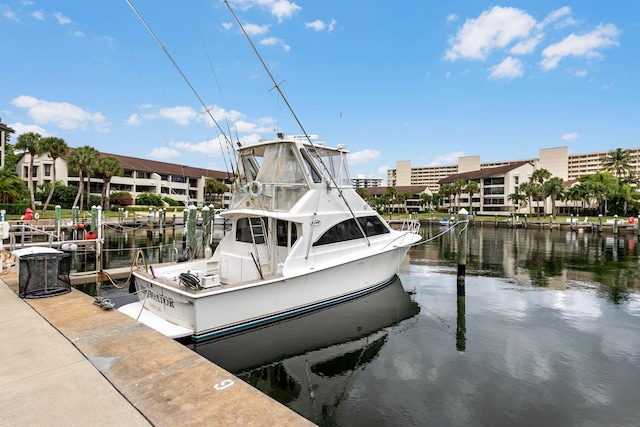
[[[600,24],[595,30],[582,35],[570,34],[561,42],[549,45],[542,51],[542,68],[545,71],[552,70],[567,56],[601,57],[599,49],[619,45],[619,34],[620,31],[613,24]]]

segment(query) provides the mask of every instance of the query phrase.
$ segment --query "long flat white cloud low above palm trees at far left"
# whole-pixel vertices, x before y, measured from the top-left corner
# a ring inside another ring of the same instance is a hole
[[[21,95],[11,101],[18,108],[28,110],[36,124],[53,124],[61,129],[86,129],[89,125],[98,131],[107,131],[105,117],[101,113],[90,113],[66,102],[43,101],[32,96]]]

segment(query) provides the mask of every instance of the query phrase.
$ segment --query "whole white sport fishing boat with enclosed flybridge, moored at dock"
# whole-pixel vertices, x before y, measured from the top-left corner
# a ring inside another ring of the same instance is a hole
[[[200,341],[390,285],[419,223],[392,229],[354,190],[345,147],[284,137],[238,148],[231,230],[213,256],[133,272],[120,311]]]

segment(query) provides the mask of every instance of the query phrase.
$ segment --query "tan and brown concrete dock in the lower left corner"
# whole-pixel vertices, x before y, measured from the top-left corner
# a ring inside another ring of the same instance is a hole
[[[0,275],[0,426],[311,426],[183,345],[78,290]]]

